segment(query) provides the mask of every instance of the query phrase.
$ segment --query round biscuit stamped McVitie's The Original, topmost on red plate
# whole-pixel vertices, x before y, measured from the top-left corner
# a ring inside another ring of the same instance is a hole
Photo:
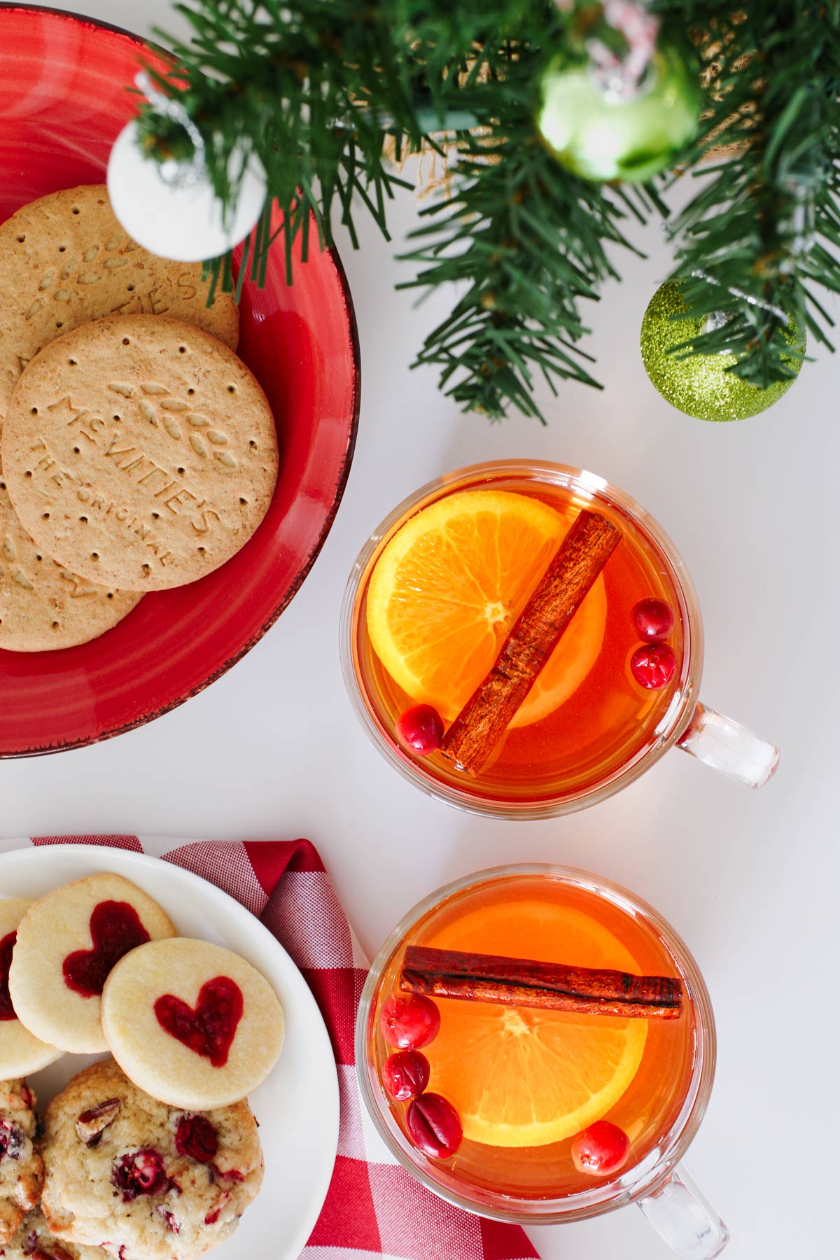
[[[183,586],[252,537],[277,481],[259,383],[209,334],[123,315],[48,345],[3,427],[14,508],[59,563],[121,591]]]

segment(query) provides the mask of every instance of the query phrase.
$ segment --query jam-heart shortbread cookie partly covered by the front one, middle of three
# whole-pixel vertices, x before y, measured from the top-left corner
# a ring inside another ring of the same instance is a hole
[[[35,901],[18,927],[9,970],[15,1014],[60,1050],[107,1050],[99,998],[111,968],[175,927],[147,893],[118,874],[91,874]]]

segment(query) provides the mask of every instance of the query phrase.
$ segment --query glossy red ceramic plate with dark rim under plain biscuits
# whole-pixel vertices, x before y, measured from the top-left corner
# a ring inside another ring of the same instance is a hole
[[[44,193],[105,180],[132,115],[136,37],[53,10],[0,8],[0,222]],[[272,251],[244,286],[239,354],[275,412],[280,480],[232,561],[147,595],[101,639],[64,651],[0,650],[0,756],[92,743],[151,721],[229,669],[280,616],[326,537],[350,469],[359,346],[334,252]]]

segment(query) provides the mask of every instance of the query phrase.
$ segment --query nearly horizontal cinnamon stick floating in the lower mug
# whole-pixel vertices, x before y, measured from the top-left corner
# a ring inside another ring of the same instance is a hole
[[[426,945],[406,948],[399,987],[432,998],[625,1019],[679,1019],[683,1009],[683,983],[676,976],[632,975]]]

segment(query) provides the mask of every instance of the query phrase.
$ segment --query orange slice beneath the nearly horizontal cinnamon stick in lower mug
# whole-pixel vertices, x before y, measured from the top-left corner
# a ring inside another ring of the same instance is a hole
[[[594,919],[547,902],[485,907],[423,944],[639,971]],[[646,1019],[453,999],[438,1005],[441,1031],[423,1050],[429,1089],[457,1109],[467,1138],[491,1147],[548,1145],[599,1120],[636,1075],[647,1038]]]

